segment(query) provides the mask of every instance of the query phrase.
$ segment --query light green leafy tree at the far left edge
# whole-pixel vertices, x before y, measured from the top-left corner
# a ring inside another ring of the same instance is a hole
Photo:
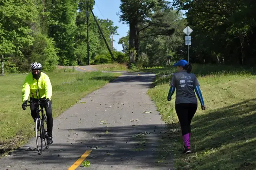
[[[8,55],[23,56],[22,48],[33,44],[31,26],[37,18],[33,0],[8,0],[0,2],[0,56],[2,75]]]

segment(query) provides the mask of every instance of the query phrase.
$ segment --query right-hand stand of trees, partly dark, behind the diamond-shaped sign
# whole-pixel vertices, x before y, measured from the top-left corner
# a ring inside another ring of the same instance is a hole
[[[193,29],[192,63],[256,64],[256,3],[252,0],[121,0],[120,20],[129,24],[120,39],[135,65],[187,59],[183,29]],[[174,10],[175,9],[175,10]],[[186,11],[186,19],[181,17]]]

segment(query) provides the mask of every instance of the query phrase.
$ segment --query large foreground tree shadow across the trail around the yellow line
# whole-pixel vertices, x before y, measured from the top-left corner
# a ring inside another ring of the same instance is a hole
[[[136,123],[134,123],[136,124]],[[108,130],[107,130],[108,129]],[[47,152],[43,152],[45,163],[75,162],[86,150],[92,150],[87,158],[91,165],[118,166],[133,165],[134,168],[172,167],[170,162],[158,163],[165,148],[159,147],[159,140],[168,137],[165,125],[114,126],[98,128],[64,129],[64,133],[81,132],[79,139],[68,141],[67,144],[53,144]],[[72,144],[71,144],[72,143]],[[60,149],[60,148],[63,148]],[[30,152],[30,155],[26,155]],[[80,155],[78,154],[80,152]],[[15,155],[16,153],[16,155]],[[18,153],[18,154],[17,154]],[[46,153],[46,154],[45,154]],[[37,151],[30,147],[12,152],[11,159],[34,162]],[[57,156],[59,155],[59,156]],[[69,156],[66,156],[69,155]],[[70,156],[71,155],[71,156]],[[171,153],[169,155],[171,157]]]

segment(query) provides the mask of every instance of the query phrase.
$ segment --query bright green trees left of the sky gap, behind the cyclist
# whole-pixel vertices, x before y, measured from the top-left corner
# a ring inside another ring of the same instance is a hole
[[[89,0],[93,9],[94,1]],[[1,71],[20,72],[41,62],[45,70],[59,65],[87,64],[86,0],[0,0]],[[111,47],[117,26],[98,19]],[[90,64],[110,62],[111,57],[89,10]],[[113,48],[112,48],[113,49]],[[118,60],[122,53],[114,53]],[[3,69],[4,68],[4,69]]]

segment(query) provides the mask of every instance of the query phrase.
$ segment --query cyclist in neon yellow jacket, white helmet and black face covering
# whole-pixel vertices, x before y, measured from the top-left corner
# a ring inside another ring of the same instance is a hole
[[[35,91],[38,91],[38,97],[40,99],[45,99],[45,112],[47,116],[47,144],[52,144],[52,127],[53,127],[53,117],[52,117],[52,84],[50,82],[49,77],[41,72],[42,65],[40,63],[32,63],[31,64],[31,73],[29,73],[25,79],[25,82],[22,86],[22,102],[23,105],[27,106],[27,101],[30,96],[30,100],[32,100],[32,95],[30,92],[34,94],[34,101],[38,102]],[[30,106],[31,116],[35,121],[36,112],[38,107]]]

